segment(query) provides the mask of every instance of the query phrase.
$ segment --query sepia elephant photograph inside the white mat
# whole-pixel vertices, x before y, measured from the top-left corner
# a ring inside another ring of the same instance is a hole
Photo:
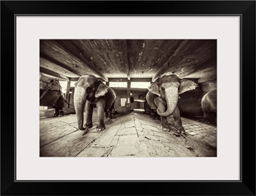
[[[40,40],[40,157],[217,157],[217,40]]]

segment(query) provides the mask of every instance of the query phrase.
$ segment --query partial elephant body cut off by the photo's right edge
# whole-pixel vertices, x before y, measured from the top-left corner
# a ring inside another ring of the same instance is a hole
[[[202,110],[204,117],[202,121],[205,123],[216,124],[217,121],[217,89],[209,91],[202,98]]]

